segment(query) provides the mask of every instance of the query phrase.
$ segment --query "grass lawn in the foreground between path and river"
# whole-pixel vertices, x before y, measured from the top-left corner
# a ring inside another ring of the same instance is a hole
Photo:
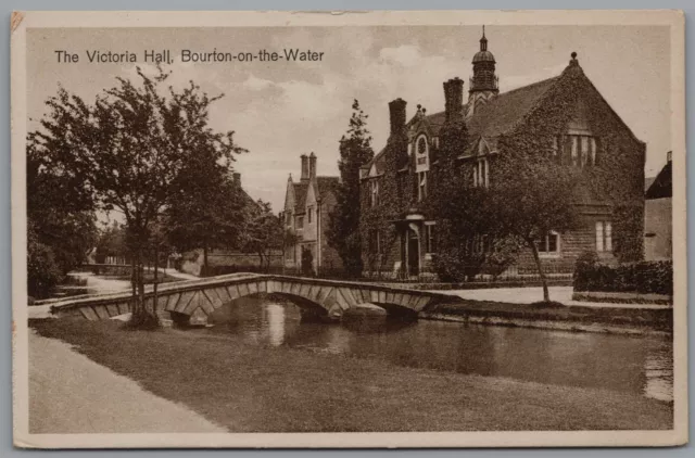
[[[671,405],[610,391],[255,347],[204,332],[126,331],[113,321],[29,326],[232,432],[672,428]]]

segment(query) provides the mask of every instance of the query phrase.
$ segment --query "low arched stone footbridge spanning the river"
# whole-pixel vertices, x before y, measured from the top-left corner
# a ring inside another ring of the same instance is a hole
[[[146,290],[146,307],[155,309],[163,322],[207,322],[207,316],[236,298],[273,294],[296,304],[304,317],[339,320],[345,310],[374,304],[389,315],[417,317],[424,309],[451,302],[452,296],[393,288],[378,283],[321,280],[275,275],[233,273],[201,280],[160,284],[157,303],[151,287]],[[58,316],[80,316],[88,320],[109,319],[131,310],[130,292],[81,296],[52,305]],[[168,321],[170,322],[170,321]]]

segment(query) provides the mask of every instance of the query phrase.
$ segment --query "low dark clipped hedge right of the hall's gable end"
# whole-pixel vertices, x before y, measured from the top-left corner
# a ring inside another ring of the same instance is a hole
[[[673,263],[643,260],[608,266],[595,254],[577,259],[574,291],[637,292],[673,295]]]

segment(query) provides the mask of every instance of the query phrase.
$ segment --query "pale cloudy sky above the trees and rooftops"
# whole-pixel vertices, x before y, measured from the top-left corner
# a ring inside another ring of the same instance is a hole
[[[666,163],[670,145],[670,34],[665,26],[493,26],[488,49],[497,62],[501,92],[558,75],[576,51],[586,76],[635,136],[647,144],[646,176]],[[288,175],[298,179],[300,155],[314,152],[318,175],[338,175],[338,145],[354,99],[369,116],[374,150],[389,132],[388,102],[407,101],[429,113],[443,110],[442,82],[471,76],[479,26],[61,28],[27,30],[29,129],[59,85],[93,101],[116,77],[146,72],[146,50],[169,50],[175,87],[195,81],[211,96],[211,126],[233,130],[249,150],[238,157],[247,192],[283,206]],[[313,62],[181,61],[181,50],[258,53],[299,49],[323,52]],[[137,63],[90,63],[87,51],[137,55]],[[58,62],[55,51],[78,54]]]

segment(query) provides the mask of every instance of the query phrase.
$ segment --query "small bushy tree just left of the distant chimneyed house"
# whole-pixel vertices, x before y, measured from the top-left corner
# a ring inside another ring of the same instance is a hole
[[[243,249],[256,253],[261,268],[270,268],[270,251],[282,250],[289,237],[282,229],[282,221],[270,209],[270,204],[258,200],[247,208],[247,227],[243,234]],[[285,263],[285,257],[282,259]]]

